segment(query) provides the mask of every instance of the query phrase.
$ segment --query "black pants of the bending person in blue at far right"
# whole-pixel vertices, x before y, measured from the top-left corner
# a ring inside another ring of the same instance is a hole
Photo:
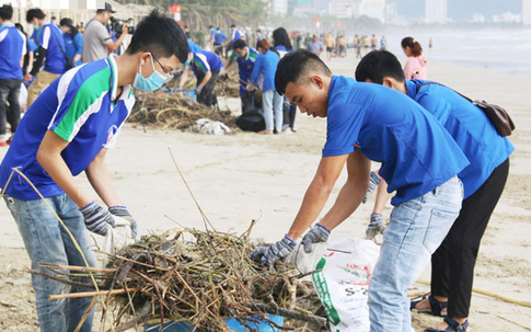
[[[431,294],[448,297],[449,317],[469,317],[480,242],[504,192],[508,174],[509,159],[498,165],[487,181],[463,201],[458,219],[431,255]]]

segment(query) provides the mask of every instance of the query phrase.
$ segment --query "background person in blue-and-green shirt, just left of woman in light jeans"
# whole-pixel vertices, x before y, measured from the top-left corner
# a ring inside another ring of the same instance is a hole
[[[232,62],[238,62],[240,72],[240,98],[242,99],[242,113],[251,111],[254,107],[254,90],[247,91],[246,87],[251,83],[251,73],[253,72],[254,62],[258,57],[258,53],[249,47],[245,41],[238,39],[232,44],[232,55],[229,58],[227,69]]]

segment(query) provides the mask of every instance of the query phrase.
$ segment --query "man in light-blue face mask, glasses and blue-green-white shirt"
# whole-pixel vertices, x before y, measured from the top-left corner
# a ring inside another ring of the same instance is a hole
[[[105,156],[135,104],[131,88],[159,89],[186,61],[187,54],[186,36],[178,24],[153,11],[138,24],[126,53],[72,68],[27,110],[0,165],[0,187],[32,268],[43,271],[38,262],[85,265],[55,214],[92,266],[96,262],[86,230],[105,236],[118,216],[130,221],[136,236],[137,225],[111,182]],[[46,202],[13,169],[25,174]],[[74,176],[83,171],[101,202],[76,182]],[[49,295],[64,293],[65,286],[32,277],[41,330],[73,331],[91,299],[70,299],[68,305],[49,300]],[[92,318],[93,313],[81,331],[92,330]]]

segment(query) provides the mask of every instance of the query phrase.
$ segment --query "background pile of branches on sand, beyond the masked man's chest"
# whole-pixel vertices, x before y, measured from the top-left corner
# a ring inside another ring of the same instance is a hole
[[[161,129],[193,129],[199,118],[219,121],[235,128],[230,111],[219,111],[195,102],[183,92],[135,92],[137,102],[127,122]]]

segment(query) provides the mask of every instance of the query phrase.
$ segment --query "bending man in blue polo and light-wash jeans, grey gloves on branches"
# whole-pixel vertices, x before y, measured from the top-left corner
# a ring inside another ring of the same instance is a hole
[[[348,176],[335,204],[302,239],[307,251],[360,205],[370,160],[396,191],[390,225],[369,286],[371,331],[411,331],[407,287],[420,275],[458,217],[463,186],[457,174],[466,157],[445,127],[399,91],[333,76],[314,54],[286,55],[275,77],[277,91],[302,113],[327,117],[326,144],[315,176],[286,236],[258,247],[252,259],[272,265],[289,254],[318,218],[346,165]]]

